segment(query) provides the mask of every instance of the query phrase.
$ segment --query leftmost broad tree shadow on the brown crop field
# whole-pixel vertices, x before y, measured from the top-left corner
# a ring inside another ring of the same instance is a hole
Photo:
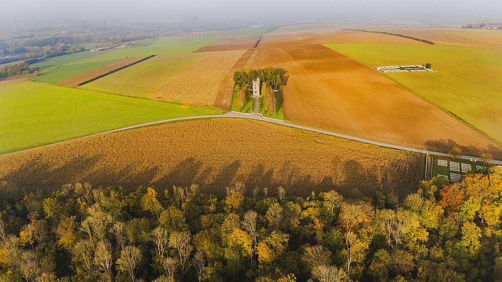
[[[51,168],[54,165],[47,161],[43,155],[26,161],[21,166],[7,173],[2,181],[15,184],[24,192],[52,192],[61,188],[62,185],[79,181],[79,176],[85,175],[89,168],[94,167],[101,156],[79,155],[69,161]]]

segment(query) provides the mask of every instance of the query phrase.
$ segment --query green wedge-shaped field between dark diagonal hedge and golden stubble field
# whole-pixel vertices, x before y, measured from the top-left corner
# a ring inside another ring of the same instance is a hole
[[[81,86],[82,89],[106,93],[147,97],[168,78],[195,63],[204,54],[155,56],[129,68]]]

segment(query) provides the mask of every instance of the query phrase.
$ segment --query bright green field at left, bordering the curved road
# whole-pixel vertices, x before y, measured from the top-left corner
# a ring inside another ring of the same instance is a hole
[[[0,88],[0,113],[0,154],[5,154],[116,128],[220,111],[22,82]]]

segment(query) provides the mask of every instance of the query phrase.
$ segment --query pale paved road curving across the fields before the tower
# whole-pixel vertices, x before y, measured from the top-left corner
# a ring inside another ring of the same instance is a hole
[[[110,131],[106,131],[106,132],[101,132],[101,133],[97,133],[97,134],[93,134],[93,135],[88,135],[88,136],[84,136],[84,137],[80,137],[80,138],[76,138],[76,139],[72,139],[72,140],[77,140],[77,139],[81,139],[81,138],[87,138],[89,136],[94,136],[94,135],[99,135],[99,134],[105,134],[105,133],[111,133],[111,132],[117,132],[117,131],[122,131],[122,130],[137,128],[137,127],[142,127],[142,126],[152,125],[152,124],[159,124],[159,123],[172,122],[172,121],[178,121],[178,120],[190,120],[190,119],[201,119],[201,118],[221,118],[221,117],[247,118],[247,119],[262,120],[262,121],[267,121],[267,122],[282,124],[282,125],[289,126],[289,127],[295,127],[295,128],[300,128],[300,129],[315,131],[315,132],[319,132],[319,133],[323,133],[323,134],[327,134],[327,135],[338,136],[338,137],[342,137],[342,138],[346,138],[346,139],[351,139],[351,140],[355,140],[355,141],[360,141],[360,142],[364,142],[364,143],[379,145],[379,146],[388,147],[388,148],[394,148],[394,149],[405,150],[405,151],[410,151],[410,152],[417,152],[417,153],[432,154],[432,155],[437,155],[437,156],[448,157],[448,154],[445,154],[445,153],[439,153],[439,152],[434,152],[434,151],[409,148],[409,147],[398,146],[398,145],[392,145],[392,144],[382,143],[382,142],[378,142],[378,141],[373,141],[373,140],[368,140],[368,139],[353,137],[353,136],[349,136],[349,135],[345,135],[345,134],[334,133],[334,132],[330,132],[330,131],[326,131],[326,130],[322,130],[322,129],[310,128],[310,127],[303,126],[303,125],[297,125],[297,124],[292,124],[292,123],[288,123],[288,122],[281,121],[281,120],[266,118],[262,114],[243,114],[243,113],[238,113],[238,112],[228,112],[228,113],[226,113],[224,115],[207,115],[207,116],[184,117],[184,118],[175,118],[175,119],[167,119],[167,120],[148,122],[148,123],[143,123],[143,124],[128,126],[128,127],[124,127],[124,128],[114,129],[114,130],[110,130]],[[71,141],[71,140],[67,140],[67,141],[63,141],[63,142],[59,142],[59,143],[64,143],[64,142],[68,142],[68,141]],[[55,144],[59,144],[59,143],[55,143]],[[52,146],[52,145],[55,145],[55,144],[46,145],[46,146],[37,147],[37,148],[43,148],[43,147]],[[33,149],[36,149],[36,148],[33,148]],[[33,149],[28,149],[28,150],[18,151],[18,152],[14,152],[14,153],[4,154],[2,156],[10,155],[10,154],[16,154],[16,153],[20,153],[20,152],[26,152],[26,151],[33,150]],[[466,159],[466,160],[472,160],[472,161],[474,161],[474,160],[476,160],[476,161],[482,161],[480,158],[471,157],[471,156],[460,156],[458,158],[460,158],[460,159]],[[502,161],[488,160],[488,162],[489,163],[493,163],[493,164],[502,165]]]

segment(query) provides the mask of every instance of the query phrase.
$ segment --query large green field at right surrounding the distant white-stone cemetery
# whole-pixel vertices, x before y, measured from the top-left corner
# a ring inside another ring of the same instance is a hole
[[[326,44],[366,66],[432,64],[437,72],[389,78],[502,142],[500,50],[436,45]]]

